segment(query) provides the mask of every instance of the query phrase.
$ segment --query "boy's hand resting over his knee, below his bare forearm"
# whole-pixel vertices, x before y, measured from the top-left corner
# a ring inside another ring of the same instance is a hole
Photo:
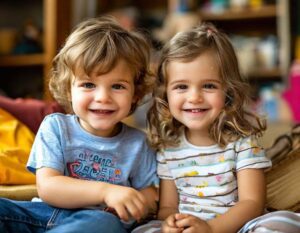
[[[138,221],[147,212],[144,195],[130,187],[111,185],[105,193],[104,202],[115,209],[119,218],[124,221],[129,221],[131,217]]]

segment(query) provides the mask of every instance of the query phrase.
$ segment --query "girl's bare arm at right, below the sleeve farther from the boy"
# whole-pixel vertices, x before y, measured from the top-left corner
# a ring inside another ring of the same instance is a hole
[[[225,214],[208,222],[213,233],[237,232],[264,210],[266,184],[263,169],[245,169],[237,173],[238,203]]]

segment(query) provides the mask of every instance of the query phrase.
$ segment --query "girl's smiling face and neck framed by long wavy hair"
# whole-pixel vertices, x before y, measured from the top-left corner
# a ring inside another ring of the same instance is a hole
[[[171,61],[167,73],[171,114],[186,126],[191,143],[212,143],[204,139],[209,138],[209,128],[225,105],[225,91],[214,56],[205,52],[189,62]]]

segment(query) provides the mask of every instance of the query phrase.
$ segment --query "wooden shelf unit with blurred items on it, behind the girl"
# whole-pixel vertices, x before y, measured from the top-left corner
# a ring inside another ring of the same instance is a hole
[[[285,83],[291,61],[289,2],[205,1],[199,15],[232,39],[243,74],[256,80]]]

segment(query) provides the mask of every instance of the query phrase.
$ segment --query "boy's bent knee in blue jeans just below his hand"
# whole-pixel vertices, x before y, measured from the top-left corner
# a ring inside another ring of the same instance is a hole
[[[68,212],[68,216],[66,213]],[[100,210],[65,211],[65,218],[54,220],[47,233],[126,233],[124,225],[115,215]]]

